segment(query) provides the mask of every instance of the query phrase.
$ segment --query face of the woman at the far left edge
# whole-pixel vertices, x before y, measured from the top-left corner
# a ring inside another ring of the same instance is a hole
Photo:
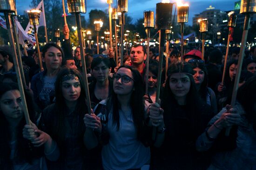
[[[19,90],[5,92],[0,98],[0,110],[7,120],[19,120],[23,117],[23,107]]]

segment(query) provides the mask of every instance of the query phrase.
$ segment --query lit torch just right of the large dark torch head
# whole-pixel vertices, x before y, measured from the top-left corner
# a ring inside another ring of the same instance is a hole
[[[177,22],[181,23],[181,58],[183,60],[183,46],[184,46],[184,23],[189,20],[189,5],[188,4],[178,4],[178,12],[177,12]]]

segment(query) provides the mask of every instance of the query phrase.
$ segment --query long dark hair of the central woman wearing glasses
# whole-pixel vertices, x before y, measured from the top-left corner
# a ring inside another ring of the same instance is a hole
[[[144,101],[143,101],[143,90],[142,90],[142,78],[141,74],[137,69],[134,69],[130,66],[121,66],[118,69],[126,68],[131,70],[133,79],[134,79],[134,91],[132,92],[131,99],[130,99],[130,106],[132,108],[132,115],[134,124],[137,130],[137,138],[141,140],[142,138],[142,129],[143,126],[145,126],[144,122]],[[115,94],[114,89],[112,94],[108,96],[107,99],[107,113],[111,112],[113,113],[113,125],[117,125],[117,130],[119,130],[120,127],[120,120],[119,120],[119,109],[120,109],[120,103],[117,99],[117,94]]]

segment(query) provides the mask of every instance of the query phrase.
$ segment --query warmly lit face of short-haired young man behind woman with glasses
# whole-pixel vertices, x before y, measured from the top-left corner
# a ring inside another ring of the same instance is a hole
[[[130,54],[132,64],[140,65],[147,59],[147,55],[144,53],[142,46],[132,47]]]

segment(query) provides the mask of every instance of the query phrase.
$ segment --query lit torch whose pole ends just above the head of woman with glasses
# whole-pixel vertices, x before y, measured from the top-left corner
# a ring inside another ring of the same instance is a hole
[[[123,65],[123,37],[124,37],[124,13],[128,12],[128,0],[118,0],[117,1],[117,12],[121,13],[121,19],[119,24],[121,25],[121,65]]]

